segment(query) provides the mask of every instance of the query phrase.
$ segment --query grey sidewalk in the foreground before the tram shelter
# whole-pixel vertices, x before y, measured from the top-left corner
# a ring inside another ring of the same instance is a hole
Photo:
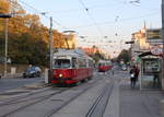
[[[161,117],[160,101],[164,100],[163,91],[130,89],[130,82],[120,83],[119,117]]]

